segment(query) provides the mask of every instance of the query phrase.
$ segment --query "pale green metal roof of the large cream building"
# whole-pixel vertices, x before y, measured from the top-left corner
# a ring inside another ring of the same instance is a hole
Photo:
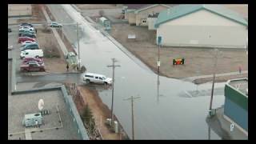
[[[248,26],[248,22],[242,17],[242,15],[229,10],[221,5],[203,5],[203,4],[188,4],[188,5],[179,5],[174,6],[170,9],[163,10],[158,15],[158,20],[155,23],[155,27],[158,27],[162,23],[169,22],[176,18],[183,17],[187,14],[192,14],[198,10],[208,10],[214,14],[218,14],[224,18],[228,18],[234,22],[238,22],[244,26]]]

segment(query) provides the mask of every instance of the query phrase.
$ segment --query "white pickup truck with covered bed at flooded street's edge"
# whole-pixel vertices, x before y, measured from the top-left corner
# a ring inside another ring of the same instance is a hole
[[[107,78],[105,75],[102,74],[86,73],[83,75],[82,80],[86,83],[94,82],[106,85],[112,84],[112,78]]]

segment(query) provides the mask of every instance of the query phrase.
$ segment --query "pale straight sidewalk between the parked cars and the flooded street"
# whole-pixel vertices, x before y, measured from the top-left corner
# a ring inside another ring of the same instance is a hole
[[[46,13],[46,10],[44,9],[44,7],[42,7],[42,13],[45,15],[46,21],[47,21],[47,22],[51,22],[50,17],[49,17],[49,15]],[[64,55],[66,55],[66,54],[68,53],[68,51],[67,51],[67,49],[66,49],[66,46],[65,46],[64,42],[62,42],[62,38],[60,38],[60,36],[58,35],[57,30],[55,30],[54,28],[52,28],[51,30],[53,30],[53,32],[54,32],[54,36],[55,36],[55,38],[56,38],[57,41],[58,41],[58,45],[60,46],[60,48],[61,48],[61,50],[62,50],[62,53],[63,53]]]

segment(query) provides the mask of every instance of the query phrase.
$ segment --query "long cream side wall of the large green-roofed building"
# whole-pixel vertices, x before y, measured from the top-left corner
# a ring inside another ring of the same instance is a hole
[[[246,46],[248,30],[240,26],[160,26],[165,46]]]

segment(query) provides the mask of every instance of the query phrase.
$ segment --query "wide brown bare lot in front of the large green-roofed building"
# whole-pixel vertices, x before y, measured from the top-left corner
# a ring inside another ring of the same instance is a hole
[[[129,40],[128,34],[136,34],[136,40]],[[114,24],[110,35],[152,70],[157,71],[158,46],[154,44],[155,30],[129,24]],[[248,70],[248,56],[244,50],[219,50],[222,54],[218,58],[216,74],[238,71],[238,66],[242,66],[242,70]],[[173,66],[173,58],[185,58],[185,65]],[[214,51],[202,48],[161,47],[160,62],[160,73],[170,78],[213,74]]]

